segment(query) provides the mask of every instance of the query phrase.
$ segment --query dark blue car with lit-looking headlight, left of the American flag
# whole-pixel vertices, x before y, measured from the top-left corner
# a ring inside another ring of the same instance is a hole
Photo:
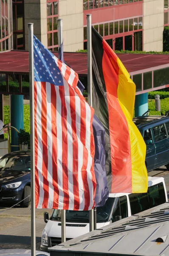
[[[15,151],[0,159],[0,204],[28,207],[31,201],[30,152]]]

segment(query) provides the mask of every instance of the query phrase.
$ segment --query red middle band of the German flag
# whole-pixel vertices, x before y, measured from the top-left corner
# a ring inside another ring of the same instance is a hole
[[[117,56],[103,40],[102,67],[106,84],[107,104],[109,112],[110,150],[112,164],[112,193],[132,191],[131,145],[127,119],[118,101]],[[121,178],[125,184],[121,188]]]

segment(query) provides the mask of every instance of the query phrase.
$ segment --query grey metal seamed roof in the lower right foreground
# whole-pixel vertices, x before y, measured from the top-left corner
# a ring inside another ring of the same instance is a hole
[[[169,203],[48,248],[57,256],[169,255]],[[72,253],[72,254],[71,254]]]

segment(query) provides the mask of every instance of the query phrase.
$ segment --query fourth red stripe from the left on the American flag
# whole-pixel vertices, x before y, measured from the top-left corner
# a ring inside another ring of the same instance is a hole
[[[62,102],[62,179],[63,179],[63,209],[69,209],[68,190],[68,130],[67,130],[67,109],[65,104],[65,87],[59,86],[59,94]]]

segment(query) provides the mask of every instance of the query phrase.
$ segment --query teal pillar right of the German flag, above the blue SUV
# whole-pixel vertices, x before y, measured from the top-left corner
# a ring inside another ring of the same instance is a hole
[[[148,110],[148,93],[135,96],[135,116],[142,116]]]

